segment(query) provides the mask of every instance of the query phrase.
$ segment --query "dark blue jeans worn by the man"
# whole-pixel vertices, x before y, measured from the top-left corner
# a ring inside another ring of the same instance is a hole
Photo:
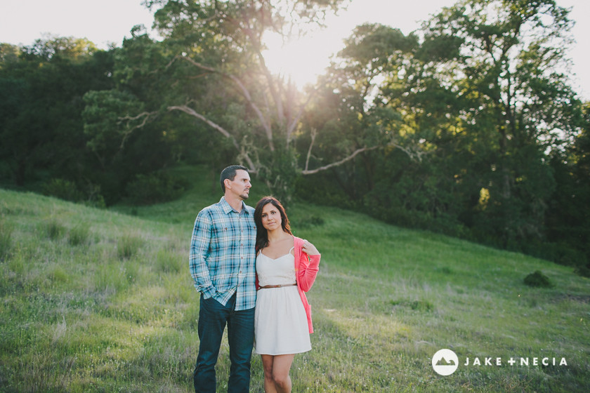
[[[214,298],[203,299],[199,309],[199,354],[193,375],[195,393],[215,393],[215,364],[221,338],[228,325],[230,380],[228,393],[247,393],[250,389],[250,359],[254,347],[254,308],[235,311],[235,295],[222,305]]]

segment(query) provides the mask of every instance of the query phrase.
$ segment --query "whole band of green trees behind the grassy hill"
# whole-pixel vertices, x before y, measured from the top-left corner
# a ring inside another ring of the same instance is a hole
[[[462,0],[412,34],[356,27],[315,86],[272,74],[264,34],[346,1],[146,1],[155,40],[0,44],[5,187],[114,204],[172,198],[179,163],[241,162],[291,197],[590,273],[590,104],[568,10]],[[362,235],[362,234],[361,234]]]

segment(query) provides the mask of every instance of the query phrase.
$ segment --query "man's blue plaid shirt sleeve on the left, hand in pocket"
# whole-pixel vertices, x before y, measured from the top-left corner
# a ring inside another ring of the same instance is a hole
[[[192,230],[190,240],[189,267],[190,275],[195,281],[197,291],[203,293],[205,299],[211,298],[216,293],[216,288],[209,275],[209,267],[206,264],[206,255],[209,252],[211,241],[211,218],[201,211],[195,220],[195,228]]]

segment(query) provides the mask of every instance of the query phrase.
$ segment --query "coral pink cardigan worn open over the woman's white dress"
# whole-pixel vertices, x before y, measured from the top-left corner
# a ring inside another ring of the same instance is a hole
[[[321,255],[307,255],[303,248],[303,239],[293,237],[295,253],[295,281],[297,282],[297,291],[303,302],[303,308],[306,309],[308,317],[309,333],[313,333],[313,324],[311,323],[311,305],[309,304],[306,292],[311,289],[317,272],[320,271]],[[260,289],[258,277],[256,277],[256,290]]]

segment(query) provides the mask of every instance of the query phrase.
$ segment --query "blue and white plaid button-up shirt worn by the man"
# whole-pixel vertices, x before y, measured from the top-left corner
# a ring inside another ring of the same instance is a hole
[[[197,215],[190,241],[190,274],[205,299],[222,305],[236,293],[235,310],[256,305],[254,208],[237,213],[225,197]]]

